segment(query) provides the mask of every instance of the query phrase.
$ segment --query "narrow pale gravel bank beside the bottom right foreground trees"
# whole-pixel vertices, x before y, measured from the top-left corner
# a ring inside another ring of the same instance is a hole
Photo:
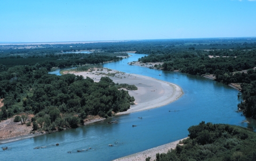
[[[171,149],[175,149],[177,144],[179,144],[179,142],[184,139],[187,139],[187,138],[183,138],[183,139],[180,139],[177,141],[166,143],[165,145],[151,148],[151,149],[148,149],[145,151],[137,152],[137,153],[129,155],[129,156],[115,159],[113,161],[140,161],[140,160],[145,161],[147,157],[150,157],[150,160],[155,160],[157,153],[159,153],[159,154],[166,153]],[[180,144],[180,145],[182,145],[182,144]]]

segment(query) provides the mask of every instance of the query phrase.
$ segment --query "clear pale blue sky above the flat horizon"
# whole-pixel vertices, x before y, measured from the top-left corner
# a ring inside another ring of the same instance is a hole
[[[256,37],[256,0],[2,0],[0,42]]]

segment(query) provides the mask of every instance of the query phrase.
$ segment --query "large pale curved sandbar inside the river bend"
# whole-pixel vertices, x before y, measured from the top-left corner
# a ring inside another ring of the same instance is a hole
[[[161,107],[172,103],[183,95],[182,89],[176,84],[138,74],[127,74],[115,70],[107,71],[107,69],[103,69],[103,71],[97,71],[95,69],[93,72],[69,73],[83,75],[84,78],[90,77],[95,82],[99,82],[101,77],[107,77],[99,73],[113,73],[115,76],[109,78],[115,83],[127,83],[137,86],[138,90],[129,90],[129,94],[135,98],[135,105],[132,105],[126,112],[121,112],[117,115]]]

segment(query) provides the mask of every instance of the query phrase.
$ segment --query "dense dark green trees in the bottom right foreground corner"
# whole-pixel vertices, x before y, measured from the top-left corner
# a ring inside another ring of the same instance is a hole
[[[181,142],[183,145],[177,145],[166,154],[156,154],[156,160],[256,160],[256,134],[250,130],[228,124],[201,122],[191,126],[188,132],[189,138]]]

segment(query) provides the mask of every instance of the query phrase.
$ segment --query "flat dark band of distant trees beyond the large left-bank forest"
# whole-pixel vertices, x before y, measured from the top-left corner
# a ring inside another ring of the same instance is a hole
[[[121,53],[128,56],[127,54]],[[36,63],[51,70],[52,67],[65,68],[69,66],[82,65],[86,63],[98,64],[108,61],[119,61],[122,57],[117,57],[118,53],[91,53],[91,54],[55,54],[55,55],[38,55],[27,58],[0,58],[0,71],[5,71],[15,65],[34,65]]]

